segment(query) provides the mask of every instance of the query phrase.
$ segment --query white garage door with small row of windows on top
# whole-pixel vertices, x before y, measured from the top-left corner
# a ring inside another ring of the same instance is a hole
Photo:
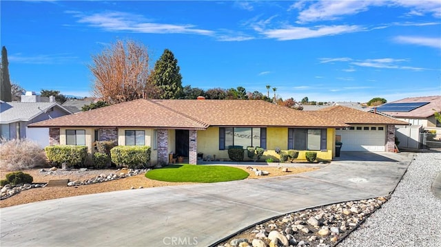
[[[336,129],[341,136],[341,151],[385,151],[386,127],[356,126]]]

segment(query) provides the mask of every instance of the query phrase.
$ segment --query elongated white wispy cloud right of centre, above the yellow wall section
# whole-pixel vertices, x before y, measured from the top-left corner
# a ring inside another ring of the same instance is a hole
[[[318,25],[311,28],[294,27],[287,25],[285,28],[262,30],[261,34],[269,39],[290,41],[295,39],[309,39],[321,36],[332,36],[365,30],[359,25]],[[258,31],[258,30],[257,30]]]

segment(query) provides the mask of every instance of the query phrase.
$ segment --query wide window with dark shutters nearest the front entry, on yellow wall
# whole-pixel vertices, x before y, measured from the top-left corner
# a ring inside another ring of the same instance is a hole
[[[266,128],[219,128],[219,150],[228,146],[267,148]]]

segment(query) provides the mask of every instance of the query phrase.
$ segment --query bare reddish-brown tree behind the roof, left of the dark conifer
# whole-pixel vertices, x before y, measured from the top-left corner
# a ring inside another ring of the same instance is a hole
[[[94,75],[92,92],[109,104],[137,98],[152,98],[158,91],[149,80],[147,47],[132,40],[116,41],[101,54],[92,55],[88,65]]]

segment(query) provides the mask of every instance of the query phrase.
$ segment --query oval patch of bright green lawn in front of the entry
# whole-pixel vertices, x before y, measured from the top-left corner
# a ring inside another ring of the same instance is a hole
[[[194,164],[170,165],[145,173],[145,177],[152,180],[201,183],[243,180],[248,175],[246,171],[235,167],[198,166]]]

